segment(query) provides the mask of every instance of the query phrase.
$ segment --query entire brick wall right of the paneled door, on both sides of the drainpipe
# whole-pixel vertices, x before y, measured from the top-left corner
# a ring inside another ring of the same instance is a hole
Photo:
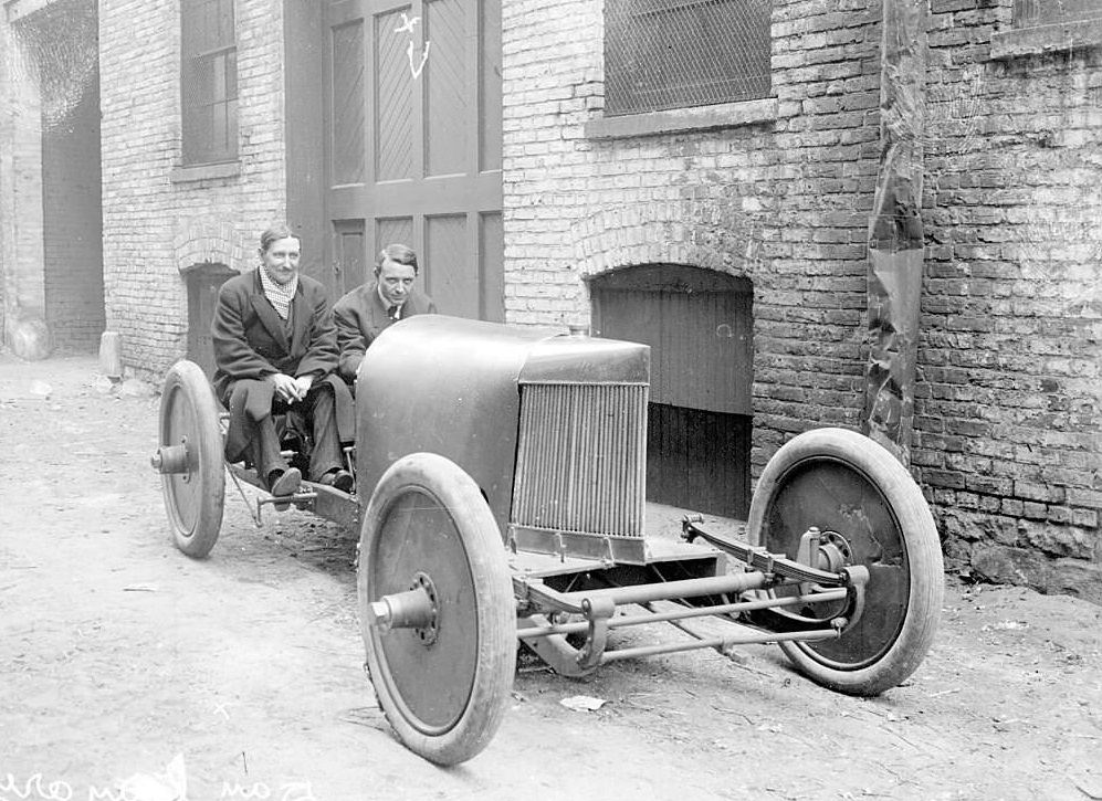
[[[860,425],[880,3],[773,12],[774,119],[597,138],[601,4],[503,9],[506,318],[673,262],[754,286],[754,475]],[[1102,600],[1100,51],[991,62],[1010,0],[934,0],[914,473],[951,567]],[[1093,159],[1093,160],[1092,160]]]

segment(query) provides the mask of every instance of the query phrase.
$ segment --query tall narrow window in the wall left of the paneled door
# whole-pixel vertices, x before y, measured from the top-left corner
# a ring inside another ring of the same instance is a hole
[[[183,165],[238,157],[238,48],[233,0],[182,0],[180,101]]]

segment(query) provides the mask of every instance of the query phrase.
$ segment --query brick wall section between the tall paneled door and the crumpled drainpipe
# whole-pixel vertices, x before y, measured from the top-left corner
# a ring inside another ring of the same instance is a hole
[[[600,139],[584,126],[604,106],[601,4],[503,9],[507,320],[585,323],[583,278],[629,265],[749,278],[755,475],[794,432],[859,424],[880,68],[865,6],[774,3],[773,120]]]

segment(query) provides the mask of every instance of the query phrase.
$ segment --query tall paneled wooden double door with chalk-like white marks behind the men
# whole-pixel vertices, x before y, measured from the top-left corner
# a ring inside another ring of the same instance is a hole
[[[503,320],[501,0],[340,0],[325,38],[335,296],[401,242],[442,314]]]

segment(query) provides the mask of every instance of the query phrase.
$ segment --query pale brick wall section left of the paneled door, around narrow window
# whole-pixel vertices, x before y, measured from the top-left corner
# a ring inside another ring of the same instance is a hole
[[[260,232],[286,212],[282,4],[234,6],[239,169],[196,179],[177,171],[180,3],[101,3],[107,328],[141,371],[160,373],[186,352],[179,271],[204,261],[252,267]]]

